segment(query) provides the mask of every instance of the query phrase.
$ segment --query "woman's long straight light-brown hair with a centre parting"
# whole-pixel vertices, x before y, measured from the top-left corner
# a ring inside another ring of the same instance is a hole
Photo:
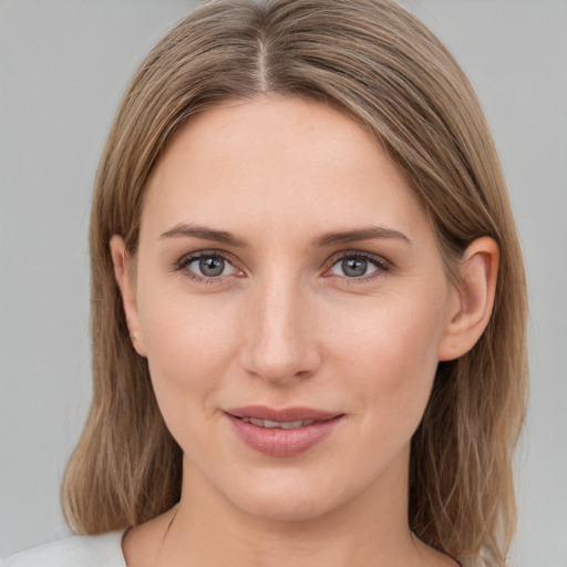
[[[527,395],[526,289],[505,179],[464,73],[392,0],[217,0],[153,49],[132,80],[102,155],[92,204],[93,401],[62,488],[70,525],[143,523],[181,496],[182,451],[147,362],[132,348],[110,239],[135,255],[146,179],[175,131],[229,100],[265,94],[333,105],[363,124],[431,218],[447,274],[482,236],[499,247],[488,326],[440,362],[412,439],[409,520],[462,565],[503,566],[515,530],[512,456]]]

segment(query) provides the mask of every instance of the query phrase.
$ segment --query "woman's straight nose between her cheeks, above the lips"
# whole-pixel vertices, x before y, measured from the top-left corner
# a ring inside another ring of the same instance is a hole
[[[312,375],[321,364],[316,319],[312,300],[299,284],[281,278],[259,285],[244,320],[245,370],[280,385]]]

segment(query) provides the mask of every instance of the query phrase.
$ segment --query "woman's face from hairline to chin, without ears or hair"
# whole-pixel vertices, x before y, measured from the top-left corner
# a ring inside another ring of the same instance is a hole
[[[197,116],[154,168],[131,271],[184,491],[287,519],[403,494],[456,293],[361,126],[275,96]]]

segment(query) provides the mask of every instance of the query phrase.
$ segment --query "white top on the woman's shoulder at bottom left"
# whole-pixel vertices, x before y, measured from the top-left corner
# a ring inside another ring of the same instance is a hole
[[[124,532],[73,536],[19,553],[0,567],[126,567],[122,553]]]

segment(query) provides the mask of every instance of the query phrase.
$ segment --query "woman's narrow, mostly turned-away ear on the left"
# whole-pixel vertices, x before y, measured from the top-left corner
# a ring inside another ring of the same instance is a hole
[[[140,315],[136,302],[136,287],[134,261],[126,250],[124,239],[114,235],[111,238],[112,264],[114,265],[114,277],[122,295],[122,305],[126,316],[126,324],[130,330],[132,344],[141,357],[146,357],[146,348],[140,326]]]

